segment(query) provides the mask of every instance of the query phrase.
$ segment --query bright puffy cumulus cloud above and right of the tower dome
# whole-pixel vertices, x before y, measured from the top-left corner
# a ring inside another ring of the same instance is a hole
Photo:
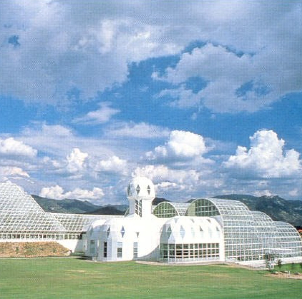
[[[155,159],[192,159],[208,151],[201,135],[188,131],[172,131],[164,146],[157,146],[146,157]]]

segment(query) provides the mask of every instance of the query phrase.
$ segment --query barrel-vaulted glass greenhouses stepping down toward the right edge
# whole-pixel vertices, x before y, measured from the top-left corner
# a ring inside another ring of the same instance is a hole
[[[177,207],[177,203],[163,202],[153,209],[153,214],[159,218],[179,216]],[[292,225],[275,222],[263,212],[250,211],[238,200],[197,199],[188,203],[182,215],[213,217],[221,224],[226,261],[249,262],[265,260],[268,256],[302,256],[301,237]]]

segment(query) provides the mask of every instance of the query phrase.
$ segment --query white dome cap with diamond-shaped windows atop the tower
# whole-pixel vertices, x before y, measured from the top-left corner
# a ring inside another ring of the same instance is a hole
[[[145,177],[133,178],[127,188],[128,198],[153,199],[155,187],[152,181]]]

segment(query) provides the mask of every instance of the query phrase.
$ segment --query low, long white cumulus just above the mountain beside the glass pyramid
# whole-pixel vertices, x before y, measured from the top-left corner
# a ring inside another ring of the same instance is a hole
[[[82,199],[92,200],[101,199],[104,196],[104,192],[101,188],[94,187],[93,190],[85,190],[76,188],[73,191],[64,192],[64,189],[59,186],[43,187],[40,196],[53,198],[53,199]]]

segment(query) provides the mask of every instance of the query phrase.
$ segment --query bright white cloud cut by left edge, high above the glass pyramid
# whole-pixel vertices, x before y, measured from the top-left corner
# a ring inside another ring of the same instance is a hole
[[[12,137],[7,139],[0,138],[0,154],[33,158],[37,155],[37,150]]]

